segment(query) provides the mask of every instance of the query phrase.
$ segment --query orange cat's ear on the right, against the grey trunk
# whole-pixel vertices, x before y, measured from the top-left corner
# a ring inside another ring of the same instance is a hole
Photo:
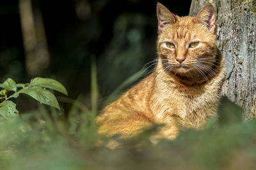
[[[211,3],[208,3],[196,15],[195,21],[204,24],[209,32],[214,34],[216,27],[216,13]]]

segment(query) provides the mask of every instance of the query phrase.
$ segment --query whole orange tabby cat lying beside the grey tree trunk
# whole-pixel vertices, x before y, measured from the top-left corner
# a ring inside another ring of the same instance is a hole
[[[129,138],[165,124],[151,141],[175,139],[179,131],[202,129],[216,116],[225,73],[212,4],[196,17],[178,17],[157,3],[157,18],[156,71],[104,109],[96,119],[99,134]]]

